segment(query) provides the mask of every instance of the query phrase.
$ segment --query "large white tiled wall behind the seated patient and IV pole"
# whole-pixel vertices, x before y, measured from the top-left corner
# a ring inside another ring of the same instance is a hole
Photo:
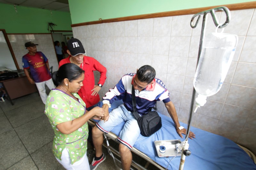
[[[226,14],[216,14],[224,23]],[[148,64],[170,91],[179,120],[187,123],[202,26],[201,18],[192,29],[192,16],[73,27],[74,37],[83,42],[87,55],[107,68],[101,96],[125,73],[136,72]],[[215,28],[208,15],[206,34],[215,32]],[[227,137],[256,153],[256,10],[231,11],[231,22],[224,33],[239,37],[235,56],[222,88],[193,115],[192,125]],[[99,77],[98,73],[95,75]],[[158,103],[158,111],[168,115],[162,102]]]

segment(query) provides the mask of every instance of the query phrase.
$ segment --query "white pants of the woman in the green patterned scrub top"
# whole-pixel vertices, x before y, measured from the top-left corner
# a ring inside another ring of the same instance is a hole
[[[75,162],[73,165],[71,165],[71,159],[68,154],[68,149],[65,148],[62,153],[61,153],[61,160],[56,158],[60,164],[68,169],[68,170],[89,170],[90,165],[89,165],[89,160],[87,158],[87,154],[85,153],[82,159],[79,161]]]

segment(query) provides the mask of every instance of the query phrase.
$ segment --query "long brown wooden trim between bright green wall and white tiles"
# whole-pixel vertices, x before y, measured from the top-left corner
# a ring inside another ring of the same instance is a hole
[[[152,14],[134,15],[134,16],[129,16],[129,17],[121,17],[121,18],[103,19],[103,20],[99,20],[99,21],[91,21],[91,22],[83,22],[83,23],[78,23],[78,24],[71,24],[71,27],[85,26],[85,25],[92,25],[92,24],[101,24],[101,23],[109,23],[109,22],[129,21],[129,20],[136,20],[136,19],[147,19],[147,18],[159,18],[159,17],[170,17],[170,16],[197,14],[199,12],[210,10],[212,8],[216,8],[216,7],[220,7],[220,6],[226,6],[230,11],[244,10],[244,9],[256,8],[256,1],[246,2],[246,3],[238,3],[238,4],[209,6],[209,7],[194,8],[194,9],[187,9],[187,10],[178,10],[178,11],[158,12],[158,13],[152,13]]]

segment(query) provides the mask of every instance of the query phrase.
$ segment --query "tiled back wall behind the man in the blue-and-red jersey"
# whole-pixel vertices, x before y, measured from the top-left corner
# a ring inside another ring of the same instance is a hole
[[[20,69],[22,67],[22,56],[28,53],[25,47],[25,43],[32,41],[38,44],[37,51],[41,51],[48,58],[49,66],[52,67],[52,71],[58,70],[58,62],[52,43],[51,34],[8,34],[9,41],[11,43],[15,58]]]

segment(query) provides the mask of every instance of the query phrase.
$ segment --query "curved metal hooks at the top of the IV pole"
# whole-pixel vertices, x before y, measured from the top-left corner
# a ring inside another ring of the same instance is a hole
[[[218,12],[218,11],[224,11],[224,12],[226,13],[226,21],[225,21],[224,24],[221,24],[221,25],[220,25],[219,20],[218,20],[218,18],[217,18],[216,15],[215,15],[215,12]],[[198,24],[198,22],[199,22],[199,20],[200,20],[200,18],[201,18],[201,15],[203,15],[203,14],[206,15],[206,14],[208,14],[209,12],[210,12],[211,15],[212,15],[212,19],[213,19],[213,22],[214,22],[215,26],[220,25],[219,28],[223,28],[223,27],[227,26],[228,23],[229,23],[230,20],[231,20],[230,11],[228,10],[228,8],[225,7],[225,6],[221,6],[221,7],[218,7],[218,8],[213,8],[213,9],[210,9],[210,10],[207,10],[207,11],[203,11],[203,12],[199,12],[199,13],[195,14],[195,15],[191,18],[190,26],[191,26],[192,28],[196,28],[196,26],[197,26],[197,24]],[[197,20],[196,20],[196,24],[193,25],[194,18],[196,18],[197,16],[198,16],[198,18],[197,18]]]

